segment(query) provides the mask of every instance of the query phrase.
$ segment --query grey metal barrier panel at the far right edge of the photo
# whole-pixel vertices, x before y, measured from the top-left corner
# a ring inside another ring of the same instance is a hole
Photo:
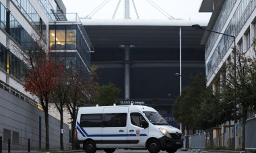
[[[255,117],[251,117],[247,119],[247,123],[245,125],[245,149],[247,150],[256,150],[256,119]]]

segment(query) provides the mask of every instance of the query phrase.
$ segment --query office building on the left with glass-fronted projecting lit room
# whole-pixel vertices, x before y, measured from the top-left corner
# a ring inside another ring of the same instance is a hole
[[[35,38],[41,38],[52,54],[90,74],[93,47],[76,13],[66,13],[61,0],[0,0],[0,136],[3,150],[44,148],[44,115],[38,101],[24,91],[24,54]],[[39,109],[38,109],[39,108]],[[50,116],[50,148],[59,148],[59,121]],[[69,127],[64,124],[64,147],[69,148]]]

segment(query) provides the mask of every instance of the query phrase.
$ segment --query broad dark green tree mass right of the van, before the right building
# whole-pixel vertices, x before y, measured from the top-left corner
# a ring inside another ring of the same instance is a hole
[[[212,89],[205,87],[205,78],[197,74],[174,102],[174,118],[189,130],[216,127],[232,117],[232,104],[224,103],[222,99],[220,92],[214,93]]]

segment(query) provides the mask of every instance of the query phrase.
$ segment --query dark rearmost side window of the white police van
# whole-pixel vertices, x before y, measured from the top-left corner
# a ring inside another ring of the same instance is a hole
[[[80,127],[102,127],[102,113],[81,114]]]

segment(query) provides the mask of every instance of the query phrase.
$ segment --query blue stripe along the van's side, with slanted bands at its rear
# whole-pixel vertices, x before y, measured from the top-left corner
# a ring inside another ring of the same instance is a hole
[[[136,134],[87,134],[83,127],[80,127],[80,124],[77,121],[77,130],[84,136],[87,137],[128,137],[128,136],[137,136]],[[84,136],[84,137],[86,137]],[[147,134],[139,134],[139,136],[148,136]]]

